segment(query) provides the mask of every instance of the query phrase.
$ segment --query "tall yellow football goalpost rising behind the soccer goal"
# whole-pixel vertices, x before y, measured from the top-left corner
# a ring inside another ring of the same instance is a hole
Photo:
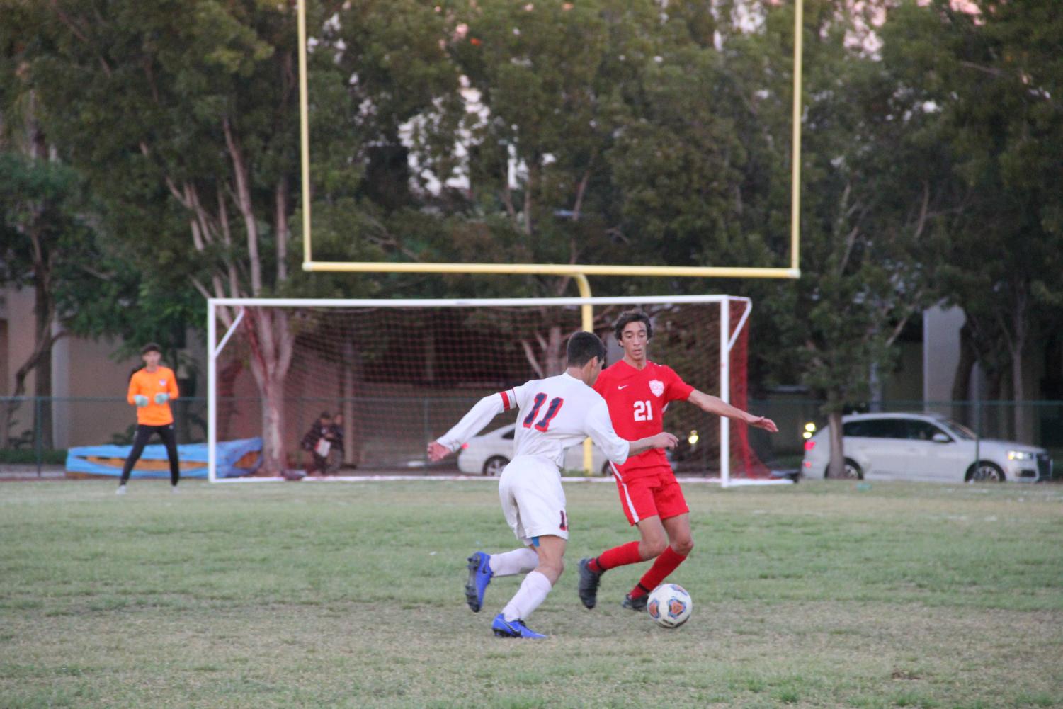
[[[723,266],[620,266],[579,264],[420,264],[381,261],[314,260],[310,230],[310,129],[306,81],[306,0],[298,0],[299,27],[299,120],[303,200],[303,270],[348,273],[460,273],[460,274],[539,274],[571,276],[581,298],[591,297],[588,275],[684,276],[702,278],[798,278],[800,277],[800,113],[802,113],[802,28],[804,0],[795,0],[793,145],[790,171],[790,266],[789,268]],[[593,331],[593,306],[584,304],[583,327]],[[585,469],[591,469],[590,439],[584,444]]]

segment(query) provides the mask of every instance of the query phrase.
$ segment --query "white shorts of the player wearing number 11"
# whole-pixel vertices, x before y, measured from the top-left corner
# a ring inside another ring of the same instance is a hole
[[[533,537],[569,538],[564,490],[557,466],[545,458],[513,458],[499,478],[499,497],[506,522],[524,544]]]

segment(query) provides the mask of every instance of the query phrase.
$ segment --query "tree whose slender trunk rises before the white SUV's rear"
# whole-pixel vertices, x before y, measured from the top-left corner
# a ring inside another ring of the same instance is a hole
[[[905,324],[937,299],[932,256],[956,197],[951,182],[913,170],[942,165],[928,145],[933,116],[909,111],[895,78],[853,41],[858,19],[806,3],[802,278],[761,298],[783,334],[776,371],[825,402],[831,477],[844,465],[845,407],[868,398],[872,369],[889,370]],[[791,22],[789,9],[776,10],[765,31],[784,48]]]

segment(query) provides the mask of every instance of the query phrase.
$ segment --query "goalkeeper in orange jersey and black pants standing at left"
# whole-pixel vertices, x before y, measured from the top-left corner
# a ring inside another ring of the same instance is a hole
[[[133,466],[140,459],[144,446],[148,444],[152,434],[158,434],[166,445],[166,457],[170,460],[170,485],[173,492],[176,492],[181,469],[178,462],[178,441],[173,433],[170,402],[178,398],[178,379],[172,369],[158,364],[163,353],[154,342],[144,345],[140,356],[144,358],[145,367],[130,377],[130,390],[125,398],[130,404],[136,406],[136,435],[133,437],[133,450],[130,451],[122,467],[118,494],[125,494],[125,484],[130,479]]]

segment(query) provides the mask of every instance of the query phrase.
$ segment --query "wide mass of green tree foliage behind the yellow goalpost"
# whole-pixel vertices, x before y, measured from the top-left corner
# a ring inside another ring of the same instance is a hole
[[[976,4],[889,3],[878,28],[876,3],[806,1],[800,282],[595,292],[753,296],[754,377],[834,411],[874,396],[870,373],[942,299],[986,369],[1017,369],[1063,303],[1063,27],[1054,0]],[[308,3],[310,205],[291,3],[6,0],[0,112],[13,131],[35,106],[87,181],[97,300],[139,308],[123,323],[74,289],[77,332],[163,339],[204,293],[574,291],[307,274],[306,206],[321,260],[782,266],[794,10],[753,6],[750,26],[731,1]]]

